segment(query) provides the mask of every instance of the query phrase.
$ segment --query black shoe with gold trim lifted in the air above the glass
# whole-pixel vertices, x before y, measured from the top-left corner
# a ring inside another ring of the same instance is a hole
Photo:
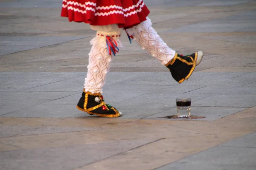
[[[175,54],[175,57],[170,60],[165,66],[169,68],[172,77],[178,83],[182,83],[184,80],[189,79],[189,77],[195,70],[195,66],[200,64],[203,56],[204,54],[202,51],[198,51],[187,56]]]

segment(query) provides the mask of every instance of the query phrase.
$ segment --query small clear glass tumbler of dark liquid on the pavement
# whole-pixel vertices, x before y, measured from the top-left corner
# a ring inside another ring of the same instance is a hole
[[[176,99],[177,116],[181,118],[190,117],[191,99]]]

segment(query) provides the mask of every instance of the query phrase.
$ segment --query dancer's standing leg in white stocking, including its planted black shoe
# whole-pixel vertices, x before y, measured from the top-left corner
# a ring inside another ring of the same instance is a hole
[[[122,30],[117,25],[92,26],[92,29],[97,32],[96,37],[91,40],[92,48],[89,53],[84,92],[77,108],[89,114],[102,117],[118,117],[122,113],[107,105],[101,93],[105,84],[106,74],[110,69],[112,57],[121,44],[119,37]]]

